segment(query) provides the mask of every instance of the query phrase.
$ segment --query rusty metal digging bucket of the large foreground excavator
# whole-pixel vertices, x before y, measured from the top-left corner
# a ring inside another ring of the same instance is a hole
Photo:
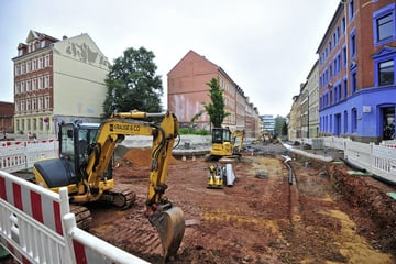
[[[185,217],[182,208],[172,207],[162,212],[155,212],[148,220],[158,231],[164,258],[175,256],[185,232]]]

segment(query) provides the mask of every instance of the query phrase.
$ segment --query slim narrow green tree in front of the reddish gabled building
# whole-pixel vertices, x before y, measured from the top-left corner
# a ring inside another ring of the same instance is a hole
[[[210,87],[209,96],[211,101],[208,105],[204,103],[205,110],[209,114],[210,122],[215,128],[221,128],[221,124],[229,112],[226,112],[223,90],[216,78],[212,78],[207,85]]]

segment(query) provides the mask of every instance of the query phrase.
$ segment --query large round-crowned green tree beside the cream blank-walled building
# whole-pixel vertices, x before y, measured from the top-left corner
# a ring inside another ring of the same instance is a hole
[[[123,56],[114,59],[110,67],[108,87],[103,102],[105,116],[110,117],[114,108],[119,111],[141,110],[161,112],[163,87],[161,76],[155,75],[154,53],[140,47],[130,47]]]

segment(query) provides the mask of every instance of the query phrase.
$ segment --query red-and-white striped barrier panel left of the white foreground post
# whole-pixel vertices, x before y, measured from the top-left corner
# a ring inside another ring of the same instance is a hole
[[[72,263],[62,223],[67,199],[61,202],[58,194],[0,172],[0,210],[2,244],[19,262]]]

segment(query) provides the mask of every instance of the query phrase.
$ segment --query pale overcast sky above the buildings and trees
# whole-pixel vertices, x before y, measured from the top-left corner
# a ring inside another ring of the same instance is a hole
[[[1,0],[0,101],[13,102],[13,62],[30,30],[87,33],[112,63],[129,48],[167,74],[190,51],[220,66],[260,114],[286,117],[340,0]]]

